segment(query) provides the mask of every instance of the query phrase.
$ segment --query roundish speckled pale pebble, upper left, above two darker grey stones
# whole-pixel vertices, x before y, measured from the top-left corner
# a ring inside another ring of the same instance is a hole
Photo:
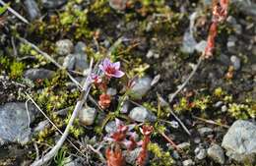
[[[66,56],[74,49],[74,45],[70,39],[62,39],[56,42],[56,52],[58,55]]]

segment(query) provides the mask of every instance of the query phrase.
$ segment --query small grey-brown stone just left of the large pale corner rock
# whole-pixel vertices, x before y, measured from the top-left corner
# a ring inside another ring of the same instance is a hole
[[[224,164],[224,150],[219,144],[212,144],[207,155],[219,164]]]

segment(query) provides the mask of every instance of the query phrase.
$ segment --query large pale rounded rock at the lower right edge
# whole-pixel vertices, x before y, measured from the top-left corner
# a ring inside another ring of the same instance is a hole
[[[222,146],[226,155],[238,162],[254,162],[256,159],[256,125],[237,120],[225,134]]]

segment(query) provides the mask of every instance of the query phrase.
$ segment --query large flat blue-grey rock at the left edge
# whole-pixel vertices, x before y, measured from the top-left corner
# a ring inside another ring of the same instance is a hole
[[[36,109],[29,104],[31,122],[36,116]],[[26,104],[11,102],[0,106],[0,145],[18,142],[26,144],[31,139],[29,116]]]

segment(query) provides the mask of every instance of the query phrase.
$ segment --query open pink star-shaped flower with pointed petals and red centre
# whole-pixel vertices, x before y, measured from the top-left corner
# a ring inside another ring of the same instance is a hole
[[[120,62],[112,63],[108,58],[103,60],[99,69],[109,78],[122,78],[124,76],[124,73],[120,71]]]

